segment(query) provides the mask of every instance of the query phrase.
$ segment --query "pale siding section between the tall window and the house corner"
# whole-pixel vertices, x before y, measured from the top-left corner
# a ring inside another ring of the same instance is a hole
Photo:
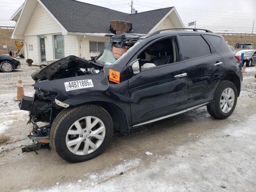
[[[70,55],[78,56],[77,36],[64,35],[64,54],[65,57]]]

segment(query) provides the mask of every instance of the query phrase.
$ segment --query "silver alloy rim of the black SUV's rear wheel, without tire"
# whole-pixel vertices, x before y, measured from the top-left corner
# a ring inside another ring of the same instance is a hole
[[[235,93],[232,88],[226,88],[220,97],[220,108],[222,112],[228,113],[235,102]]]

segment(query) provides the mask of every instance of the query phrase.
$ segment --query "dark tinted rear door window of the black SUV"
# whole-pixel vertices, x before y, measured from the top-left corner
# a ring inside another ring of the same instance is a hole
[[[182,35],[179,39],[186,60],[211,54],[210,46],[200,35]]]

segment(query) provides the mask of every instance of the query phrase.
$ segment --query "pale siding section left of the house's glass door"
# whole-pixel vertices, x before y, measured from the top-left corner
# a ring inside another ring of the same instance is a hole
[[[25,52],[25,58],[28,59],[32,59],[34,61],[34,65],[38,65],[39,64],[39,58],[38,58],[38,40],[37,40],[37,36],[26,36],[24,39],[24,42],[26,42],[25,47],[24,48],[24,52]],[[28,45],[33,45],[33,50],[29,50]],[[28,58],[27,58],[28,57]]]

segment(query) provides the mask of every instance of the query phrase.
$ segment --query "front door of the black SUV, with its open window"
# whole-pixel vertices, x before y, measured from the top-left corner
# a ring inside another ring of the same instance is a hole
[[[175,44],[176,38],[157,41],[132,59],[142,59],[141,72],[128,79],[133,126],[186,110],[186,62],[179,62]]]

